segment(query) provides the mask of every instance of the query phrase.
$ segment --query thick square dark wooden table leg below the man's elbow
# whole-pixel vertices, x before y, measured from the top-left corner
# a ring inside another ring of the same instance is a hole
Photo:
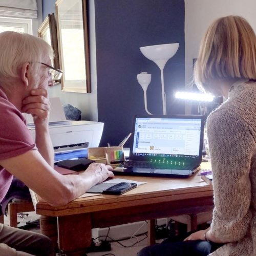
[[[90,214],[58,217],[59,249],[67,255],[84,255],[91,245],[92,227]]]

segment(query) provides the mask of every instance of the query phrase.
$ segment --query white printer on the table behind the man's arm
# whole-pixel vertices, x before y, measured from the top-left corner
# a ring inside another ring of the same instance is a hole
[[[50,102],[49,131],[55,154],[99,146],[104,123],[66,120],[59,98],[50,98]],[[25,116],[31,135],[35,139],[33,118],[28,114]]]

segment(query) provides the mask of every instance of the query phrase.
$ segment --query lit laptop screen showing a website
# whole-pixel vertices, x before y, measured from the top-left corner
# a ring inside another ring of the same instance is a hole
[[[137,117],[133,156],[198,157],[202,150],[201,129],[200,118]]]

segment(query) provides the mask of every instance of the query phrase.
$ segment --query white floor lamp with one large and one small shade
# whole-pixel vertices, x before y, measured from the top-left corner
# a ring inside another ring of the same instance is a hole
[[[162,102],[163,102],[163,114],[164,115],[166,115],[166,97],[165,97],[165,92],[164,92],[163,69],[164,69],[166,62],[174,56],[174,54],[177,52],[178,48],[179,48],[178,43],[140,47],[140,51],[142,52],[142,54],[146,58],[154,61],[161,71]],[[143,72],[143,73],[145,73],[145,72]],[[140,76],[140,75],[141,74],[137,75],[137,79],[144,91],[145,110],[148,114],[151,114],[150,112],[147,111],[147,106],[146,106],[146,90],[147,90],[148,84],[151,81],[151,74],[147,74],[147,75],[150,75],[150,80],[149,80],[147,86],[144,86],[144,88],[142,86],[141,81],[144,79],[145,76]],[[138,76],[139,76],[139,78],[138,78]],[[141,79],[140,79],[140,77],[141,77]],[[148,78],[146,79],[146,81],[148,81]]]

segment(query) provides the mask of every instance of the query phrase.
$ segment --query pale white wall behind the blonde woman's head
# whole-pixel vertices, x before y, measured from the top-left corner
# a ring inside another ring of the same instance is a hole
[[[240,15],[247,19],[256,31],[255,0],[185,0],[185,84],[193,77],[193,58],[206,29],[216,18]]]

